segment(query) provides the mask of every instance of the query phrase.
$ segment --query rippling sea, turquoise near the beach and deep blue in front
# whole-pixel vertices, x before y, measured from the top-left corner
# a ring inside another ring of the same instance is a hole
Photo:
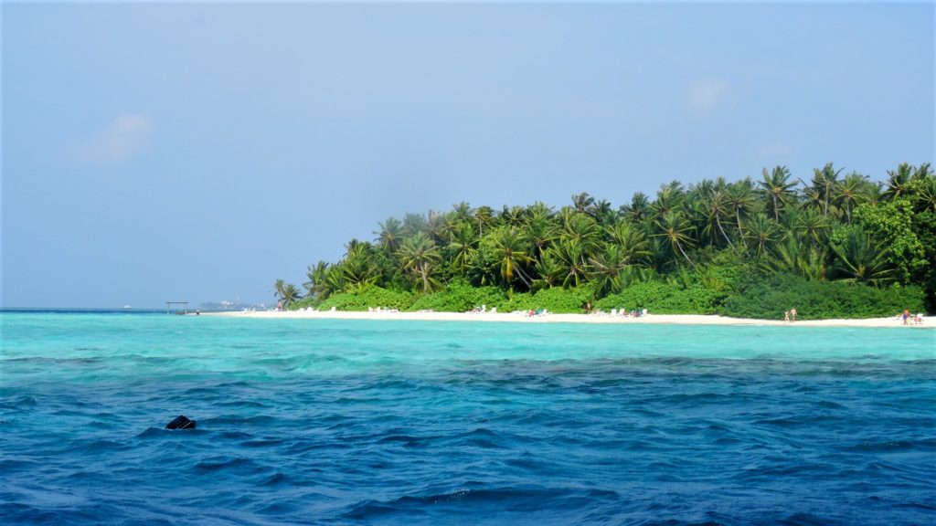
[[[936,523],[934,330],[0,324],[4,523]]]

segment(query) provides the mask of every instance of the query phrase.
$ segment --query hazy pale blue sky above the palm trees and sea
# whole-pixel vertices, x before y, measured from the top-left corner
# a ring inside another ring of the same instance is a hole
[[[7,307],[269,303],[390,215],[934,161],[929,2],[2,16]]]

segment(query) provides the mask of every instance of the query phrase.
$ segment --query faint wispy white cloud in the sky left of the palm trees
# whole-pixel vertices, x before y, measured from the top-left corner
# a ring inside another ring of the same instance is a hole
[[[124,113],[103,130],[75,143],[69,149],[69,156],[82,163],[95,165],[122,163],[139,152],[152,132],[153,122],[149,117]]]

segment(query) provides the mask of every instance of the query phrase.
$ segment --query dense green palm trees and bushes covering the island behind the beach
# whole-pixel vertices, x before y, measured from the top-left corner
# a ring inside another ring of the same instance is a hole
[[[809,183],[785,167],[756,182],[664,184],[613,208],[588,194],[527,207],[407,213],[308,268],[288,308],[501,312],[642,309],[801,318],[936,310],[936,177],[929,164],[885,183],[832,164]]]

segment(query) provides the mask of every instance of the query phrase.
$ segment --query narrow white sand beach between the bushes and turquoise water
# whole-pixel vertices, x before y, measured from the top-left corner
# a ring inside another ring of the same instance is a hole
[[[315,312],[315,311],[256,311],[250,313],[204,313],[202,315],[263,318],[263,319],[363,319],[363,320],[407,320],[407,321],[480,321],[480,322],[515,322],[515,323],[604,323],[604,324],[671,324],[671,325],[749,325],[777,327],[863,327],[863,328],[908,328],[936,329],[936,319],[925,318],[922,325],[904,326],[894,317],[870,319],[826,319],[796,322],[782,320],[760,320],[730,318],[719,315],[702,314],[647,314],[637,318],[611,316],[608,314],[546,314],[526,316],[515,313],[394,313],[382,312]]]

